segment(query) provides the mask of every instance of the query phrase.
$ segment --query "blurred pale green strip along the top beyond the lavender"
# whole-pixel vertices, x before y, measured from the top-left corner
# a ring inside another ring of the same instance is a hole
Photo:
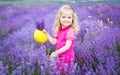
[[[119,3],[120,0],[0,0],[1,3]]]

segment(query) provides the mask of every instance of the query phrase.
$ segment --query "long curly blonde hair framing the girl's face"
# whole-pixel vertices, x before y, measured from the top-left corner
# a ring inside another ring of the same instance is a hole
[[[60,24],[60,17],[61,17],[61,14],[64,10],[68,10],[69,12],[72,13],[72,25],[71,27],[76,31],[78,32],[79,31],[79,27],[78,27],[78,20],[77,20],[77,14],[74,12],[74,10],[69,6],[69,5],[63,5],[59,10],[58,10],[58,13],[56,15],[56,18],[55,18],[55,21],[54,21],[54,27],[53,27],[53,31],[54,31],[54,34],[56,35],[61,27],[61,24]]]

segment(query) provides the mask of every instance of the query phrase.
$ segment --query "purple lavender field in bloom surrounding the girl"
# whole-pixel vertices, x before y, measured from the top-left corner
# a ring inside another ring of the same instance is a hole
[[[120,74],[120,4],[70,4],[78,15],[75,63],[70,75]],[[38,44],[36,23],[53,36],[62,4],[0,4],[0,75],[60,75],[48,56],[49,42]],[[64,67],[66,68],[66,66]]]

